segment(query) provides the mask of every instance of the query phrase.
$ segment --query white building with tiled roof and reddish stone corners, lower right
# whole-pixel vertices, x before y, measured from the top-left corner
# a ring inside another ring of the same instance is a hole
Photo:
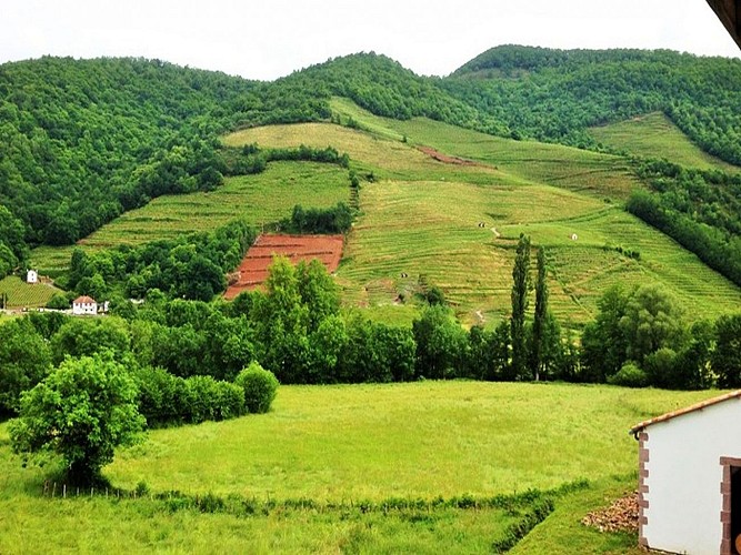
[[[641,422],[631,433],[639,442],[639,543],[670,553],[738,553],[741,390]]]

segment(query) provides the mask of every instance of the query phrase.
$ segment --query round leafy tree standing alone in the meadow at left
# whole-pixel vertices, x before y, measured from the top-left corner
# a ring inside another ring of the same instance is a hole
[[[67,477],[90,485],[120,445],[140,436],[137,386],[109,354],[67,359],[21,398],[10,426],[13,451],[62,458]]]

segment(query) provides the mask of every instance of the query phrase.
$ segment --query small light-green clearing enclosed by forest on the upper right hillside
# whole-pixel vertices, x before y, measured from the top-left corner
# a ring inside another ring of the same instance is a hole
[[[661,112],[591,128],[589,132],[603,144],[629,154],[665,158],[677,164],[701,170],[739,171],[735,165],[700,149]]]

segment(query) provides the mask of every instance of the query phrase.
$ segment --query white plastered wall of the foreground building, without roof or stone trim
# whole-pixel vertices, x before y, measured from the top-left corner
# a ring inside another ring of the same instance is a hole
[[[645,428],[649,546],[718,554],[722,539],[721,456],[741,457],[741,400],[694,411]]]

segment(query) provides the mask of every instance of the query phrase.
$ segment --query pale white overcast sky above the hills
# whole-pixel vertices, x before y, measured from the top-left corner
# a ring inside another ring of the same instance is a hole
[[[131,56],[272,80],[372,50],[445,75],[508,43],[741,54],[705,0],[0,0],[0,62]]]

